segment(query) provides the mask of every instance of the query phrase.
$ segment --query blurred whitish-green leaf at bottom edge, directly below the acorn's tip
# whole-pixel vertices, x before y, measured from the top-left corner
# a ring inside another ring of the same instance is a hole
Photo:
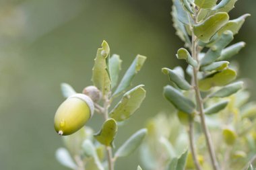
[[[70,169],[77,169],[77,165],[75,165],[67,149],[58,148],[56,151],[55,157],[59,161],[59,163],[61,163],[61,165],[64,165],[65,167],[69,167]]]

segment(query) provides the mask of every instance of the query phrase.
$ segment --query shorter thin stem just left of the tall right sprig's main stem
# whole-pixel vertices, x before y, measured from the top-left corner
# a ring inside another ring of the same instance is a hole
[[[192,158],[193,158],[193,163],[195,165],[195,168],[197,170],[201,170],[200,164],[197,160],[197,153],[195,151],[195,142],[194,142],[194,122],[193,120],[189,121],[189,144],[191,148],[191,153],[192,153]]]

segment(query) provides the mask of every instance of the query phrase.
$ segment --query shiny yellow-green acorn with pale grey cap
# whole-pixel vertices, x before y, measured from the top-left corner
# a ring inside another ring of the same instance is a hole
[[[69,135],[77,132],[94,114],[94,102],[85,94],[76,93],[59,106],[54,120],[56,132]]]

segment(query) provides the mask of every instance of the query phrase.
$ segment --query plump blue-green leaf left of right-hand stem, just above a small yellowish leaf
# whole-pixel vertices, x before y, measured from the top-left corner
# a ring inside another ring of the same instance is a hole
[[[174,89],[174,87],[171,87],[170,85],[164,87],[164,97],[166,97],[166,99],[178,110],[187,114],[192,114],[195,111],[195,104],[193,101],[185,97],[183,93]]]

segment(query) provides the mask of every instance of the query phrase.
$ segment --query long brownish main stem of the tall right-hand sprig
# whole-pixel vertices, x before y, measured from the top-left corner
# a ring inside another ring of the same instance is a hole
[[[197,12],[195,13],[194,17],[194,22],[195,24],[197,23]],[[198,58],[198,46],[197,46],[197,37],[195,36],[195,34],[192,32],[192,57],[197,60],[197,62],[199,63],[199,58]],[[207,144],[207,149],[208,152],[210,154],[210,159],[212,162],[212,167],[214,168],[214,170],[219,170],[218,167],[218,161],[216,159],[216,154],[214,151],[214,146],[212,144],[212,138],[210,136],[210,132],[206,126],[205,123],[205,114],[203,112],[203,101],[201,98],[201,93],[199,91],[199,83],[198,83],[198,78],[197,78],[197,73],[199,71],[199,65],[197,68],[193,68],[193,80],[194,80],[194,85],[195,85],[195,98],[197,101],[197,107],[199,110],[199,116],[200,116],[200,120],[201,120],[201,128],[203,129],[203,134],[205,136],[205,140],[206,140],[206,144]]]

